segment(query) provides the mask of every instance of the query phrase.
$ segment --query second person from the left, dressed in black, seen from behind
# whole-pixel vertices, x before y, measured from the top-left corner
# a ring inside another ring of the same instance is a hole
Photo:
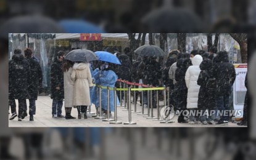
[[[42,86],[43,73],[39,63],[32,58],[32,50],[27,48],[24,50],[25,57],[30,64],[30,78],[28,79],[28,93],[30,95],[29,114],[30,121],[34,121],[33,115],[36,114],[36,100],[38,98],[38,90]],[[27,106],[27,105],[26,105]],[[27,114],[27,108],[24,109],[23,114]]]

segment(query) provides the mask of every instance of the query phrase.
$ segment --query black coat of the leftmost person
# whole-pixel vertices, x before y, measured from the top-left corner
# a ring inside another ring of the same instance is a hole
[[[9,61],[9,99],[28,97],[30,65],[22,54],[15,54]]]

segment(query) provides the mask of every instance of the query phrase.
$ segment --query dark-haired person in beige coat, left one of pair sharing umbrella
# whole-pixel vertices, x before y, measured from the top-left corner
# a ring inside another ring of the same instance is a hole
[[[71,116],[71,110],[73,107],[73,90],[74,90],[74,81],[71,79],[71,74],[73,71],[73,62],[70,60],[65,60],[62,70],[64,72],[64,106],[65,106],[65,119],[75,119]]]

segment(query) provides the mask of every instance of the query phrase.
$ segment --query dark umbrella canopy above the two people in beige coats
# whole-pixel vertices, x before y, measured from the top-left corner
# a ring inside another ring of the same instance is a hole
[[[91,50],[75,49],[68,52],[65,60],[70,60],[72,62],[89,62],[92,60],[98,60],[98,58],[96,54],[94,54],[94,52]]]

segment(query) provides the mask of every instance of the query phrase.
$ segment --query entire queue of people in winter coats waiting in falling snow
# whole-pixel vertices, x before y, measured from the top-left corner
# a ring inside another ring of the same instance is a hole
[[[71,116],[72,108],[78,111],[78,119],[87,118],[87,108],[96,106],[99,114],[99,85],[115,87],[119,85],[118,78],[133,82],[142,82],[151,86],[165,85],[170,87],[170,105],[178,111],[179,123],[226,124],[229,116],[223,116],[218,111],[230,110],[229,97],[236,78],[234,66],[228,62],[228,53],[192,50],[191,54],[171,50],[165,65],[162,67],[157,57],[138,57],[131,64],[125,54],[116,53],[122,65],[98,61],[94,63],[94,70],[89,62],[71,62],[65,60],[65,52],[58,52],[56,60],[51,66],[51,98],[52,118],[75,119]],[[9,104],[12,110],[10,120],[18,116],[22,121],[27,116],[26,99],[30,100],[30,121],[35,114],[35,100],[38,88],[42,82],[42,72],[39,63],[32,58],[31,49],[14,52],[9,62]],[[96,64],[96,65],[95,65]],[[17,79],[19,78],[19,81]],[[93,83],[95,86],[93,86]],[[19,94],[17,94],[19,93]],[[139,92],[136,92],[138,94]],[[122,100],[119,94],[117,101]],[[156,92],[152,92],[152,106],[156,108]],[[134,103],[137,102],[138,95]],[[147,92],[141,95],[145,108]],[[16,113],[15,99],[19,101],[19,113]],[[65,99],[65,116],[62,115],[62,106]],[[102,89],[102,114],[107,113],[107,90]],[[208,114],[189,114],[184,116],[185,110]],[[217,111],[209,114],[210,111]],[[231,108],[232,110],[232,108]],[[110,116],[114,111],[114,91],[110,90]],[[217,117],[219,119],[216,119]],[[218,121],[216,121],[218,120]],[[244,124],[244,123],[243,123]]]

